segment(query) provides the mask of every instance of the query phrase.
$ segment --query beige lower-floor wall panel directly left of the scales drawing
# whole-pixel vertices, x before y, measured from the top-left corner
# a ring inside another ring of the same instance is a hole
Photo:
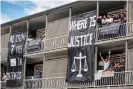
[[[46,59],[44,77],[61,77],[66,75],[67,58]]]

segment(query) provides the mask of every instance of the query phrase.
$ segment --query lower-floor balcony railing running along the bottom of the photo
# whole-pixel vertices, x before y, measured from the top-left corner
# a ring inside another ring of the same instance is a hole
[[[5,89],[5,82],[1,82],[3,89]],[[50,77],[43,79],[28,79],[25,80],[25,89],[40,89],[40,88],[85,88],[85,87],[104,87],[104,86],[133,86],[133,71],[115,72],[113,77],[104,77],[100,80],[94,80],[88,83],[67,83],[65,76]]]

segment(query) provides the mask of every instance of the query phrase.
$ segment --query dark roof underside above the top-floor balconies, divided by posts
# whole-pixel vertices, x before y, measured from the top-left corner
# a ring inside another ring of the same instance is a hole
[[[111,9],[114,7],[120,7],[120,6],[124,6],[125,2],[124,1],[100,1],[100,11],[105,11],[106,9]],[[65,17],[69,16],[69,7],[72,8],[72,15],[76,15],[76,14],[80,14],[80,13],[84,13],[84,12],[88,12],[91,10],[96,10],[96,5],[97,2],[96,1],[79,1],[77,3],[73,3],[73,5],[69,5],[67,4],[66,8],[58,8],[57,10],[53,8],[53,11],[46,11],[47,13],[38,13],[35,14],[34,18],[32,15],[29,16],[29,20],[30,20],[30,27],[32,28],[36,28],[36,27],[40,27],[40,26],[45,26],[45,14],[49,14],[48,16],[48,21],[54,21],[57,19],[62,19]],[[54,11],[55,10],[55,11]],[[45,12],[45,11],[44,11]],[[24,17],[24,18],[28,18],[28,17]],[[13,23],[13,29],[21,29],[21,28],[25,28],[26,27],[26,20],[22,18],[22,22],[19,21],[16,23]],[[14,22],[15,22],[14,21]],[[13,21],[12,21],[13,22]],[[44,25],[43,25],[44,24]]]

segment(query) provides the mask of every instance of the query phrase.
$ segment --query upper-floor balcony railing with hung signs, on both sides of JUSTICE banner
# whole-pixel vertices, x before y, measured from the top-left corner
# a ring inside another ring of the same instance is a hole
[[[55,22],[54,22],[55,23]],[[118,40],[122,38],[131,39],[133,36],[133,24],[124,23],[124,24],[115,24],[102,28],[98,28],[95,31],[96,43],[98,42],[107,42],[112,40]],[[68,35],[61,35],[57,37],[47,38],[45,40],[33,40],[27,45],[27,54],[33,53],[47,53],[54,52],[58,50],[66,50],[68,43]],[[31,50],[30,50],[31,48]],[[33,50],[32,50],[33,49]]]

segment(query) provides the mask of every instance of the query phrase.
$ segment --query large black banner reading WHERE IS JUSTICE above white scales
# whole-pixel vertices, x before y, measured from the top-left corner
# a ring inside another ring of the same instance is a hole
[[[93,80],[96,11],[71,17],[68,38],[67,82]]]

